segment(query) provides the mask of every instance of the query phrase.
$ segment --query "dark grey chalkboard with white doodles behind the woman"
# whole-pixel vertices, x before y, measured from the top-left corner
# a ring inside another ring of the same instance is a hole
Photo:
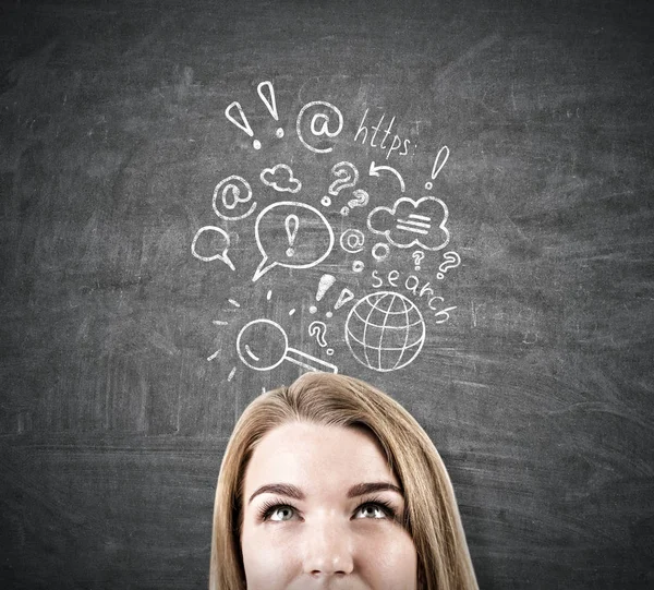
[[[310,370],[443,453],[484,589],[654,585],[647,3],[4,2],[3,588],[205,588]]]

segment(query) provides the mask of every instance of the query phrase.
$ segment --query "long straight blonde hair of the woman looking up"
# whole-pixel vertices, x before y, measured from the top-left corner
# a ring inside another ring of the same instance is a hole
[[[209,590],[245,590],[240,544],[243,480],[263,436],[292,421],[365,428],[380,443],[405,497],[404,526],[423,590],[477,590],[452,485],[436,447],[397,401],[363,381],[308,373],[256,398],[231,435],[216,489]]]

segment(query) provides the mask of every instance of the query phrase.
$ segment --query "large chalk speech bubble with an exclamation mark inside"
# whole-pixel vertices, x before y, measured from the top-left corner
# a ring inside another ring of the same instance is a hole
[[[262,209],[254,237],[263,257],[253,281],[275,266],[316,266],[330,254],[335,241],[331,226],[318,209],[292,201],[280,201]]]

